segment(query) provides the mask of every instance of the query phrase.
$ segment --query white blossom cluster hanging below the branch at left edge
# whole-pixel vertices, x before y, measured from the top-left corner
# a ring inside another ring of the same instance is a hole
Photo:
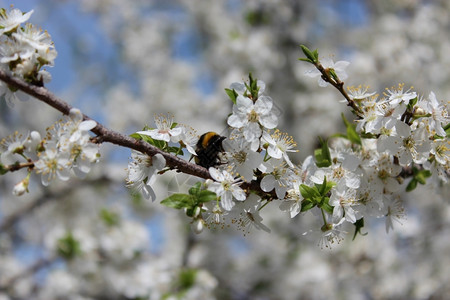
[[[2,173],[27,168],[28,174],[13,189],[20,196],[28,192],[32,172],[40,174],[44,186],[56,178],[68,180],[73,172],[84,178],[92,164],[98,162],[99,147],[91,142],[89,131],[97,123],[83,121],[79,109],[72,108],[69,116],[47,129],[43,138],[37,131],[23,136],[18,133],[1,141],[0,166]]]

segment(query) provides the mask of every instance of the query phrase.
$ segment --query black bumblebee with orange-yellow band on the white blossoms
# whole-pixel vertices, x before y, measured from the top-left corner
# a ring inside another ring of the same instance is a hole
[[[195,152],[195,163],[205,168],[214,167],[220,164],[219,153],[224,152],[222,142],[224,136],[209,131],[200,136]]]

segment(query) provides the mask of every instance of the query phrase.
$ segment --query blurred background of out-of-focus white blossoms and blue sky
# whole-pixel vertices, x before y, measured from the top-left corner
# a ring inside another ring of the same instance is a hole
[[[199,134],[226,128],[224,88],[249,72],[267,84],[294,137],[296,163],[317,136],[342,130],[341,96],[304,76],[299,45],[347,60],[347,86],[382,93],[404,83],[450,97],[450,2],[445,0],[0,1],[52,36],[58,57],[47,87],[105,126],[130,134],[173,114]],[[45,128],[60,114],[38,101],[0,101],[0,138]],[[234,228],[192,233],[183,212],[131,195],[128,149],[101,148],[88,178],[15,197],[26,174],[0,180],[0,299],[448,299],[449,187],[404,195],[407,219],[383,220],[331,251],[315,218],[262,212],[270,234]],[[192,178],[165,174],[159,199]],[[316,226],[317,227],[317,226]],[[58,255],[71,240],[77,255]],[[19,277],[15,277],[20,274]],[[14,280],[11,280],[13,278]]]

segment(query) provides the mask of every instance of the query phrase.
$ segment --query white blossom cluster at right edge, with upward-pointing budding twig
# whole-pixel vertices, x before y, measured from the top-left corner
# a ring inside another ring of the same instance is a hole
[[[348,64],[322,65],[317,52],[307,48],[303,52],[307,56],[303,60],[315,66],[306,75],[320,75],[338,89],[343,86],[341,80],[347,75],[342,66]],[[325,86],[321,81],[319,85]],[[405,217],[401,202],[405,189],[425,184],[428,177],[432,184],[447,183],[450,174],[448,102],[439,101],[433,92],[418,96],[403,84],[386,89],[382,97],[361,86],[348,88],[348,93],[340,91],[354,109],[356,125],[345,120],[347,135],[330,149],[326,167],[315,163],[308,168],[314,184],[333,183],[328,200],[332,221],[325,221],[332,229],[322,228],[326,245],[339,241],[343,220],[359,230],[358,220],[385,217],[389,231],[393,221]]]

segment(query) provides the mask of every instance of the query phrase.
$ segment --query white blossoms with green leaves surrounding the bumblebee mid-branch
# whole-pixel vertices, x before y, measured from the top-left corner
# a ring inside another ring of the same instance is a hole
[[[206,227],[236,225],[245,234],[251,228],[270,231],[262,224],[260,209],[273,200],[283,199],[293,183],[300,182],[301,169],[288,157],[296,143],[289,135],[275,129],[280,110],[271,97],[264,94],[265,84],[249,76],[248,82],[233,83],[227,93],[234,103],[228,118],[230,134],[223,142],[218,165],[209,168],[211,179],[192,188],[187,197],[172,195],[163,204],[184,208],[193,218],[194,231]],[[172,117],[155,117],[156,128],[146,128],[136,135],[151,144],[172,153],[193,148],[199,136]],[[179,143],[171,147],[169,143]],[[154,199],[150,185],[155,174],[163,172],[165,160],[161,155],[149,157],[132,153],[128,165],[127,185],[140,191],[145,198]],[[242,187],[257,182],[259,194],[250,194]],[[198,191],[198,190],[200,191]],[[269,196],[266,196],[269,195]],[[178,197],[178,198],[177,198]],[[189,198],[189,199],[188,199]]]

